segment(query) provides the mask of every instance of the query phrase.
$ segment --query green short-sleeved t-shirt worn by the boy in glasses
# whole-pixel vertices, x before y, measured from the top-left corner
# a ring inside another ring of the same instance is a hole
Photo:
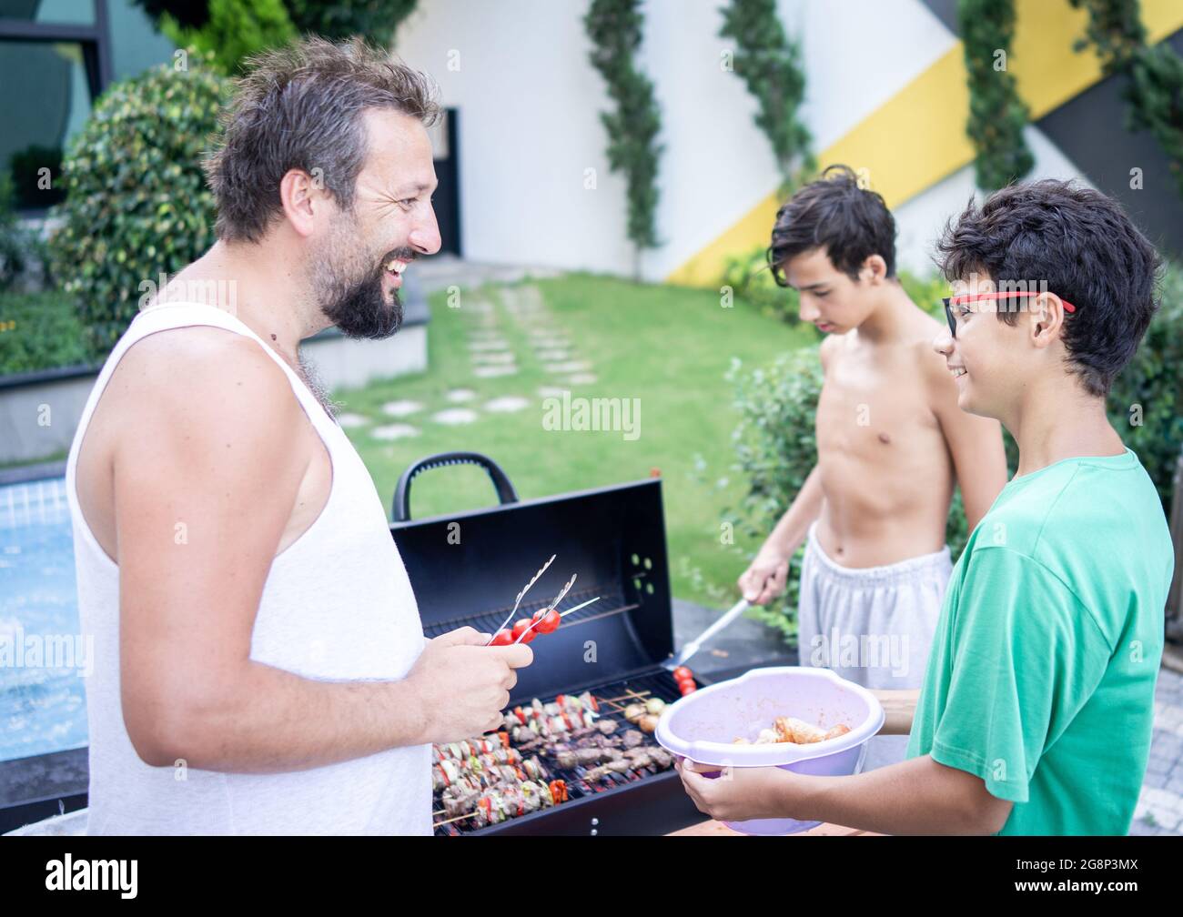
[[[1001,834],[1126,834],[1174,567],[1133,451],[1014,478],[953,569],[907,757],[1011,800]]]

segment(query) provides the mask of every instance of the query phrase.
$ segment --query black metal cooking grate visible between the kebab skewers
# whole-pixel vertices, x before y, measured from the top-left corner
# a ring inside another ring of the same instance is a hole
[[[576,615],[577,614],[580,613],[576,613]],[[638,698],[639,700],[645,700],[649,697],[659,697],[666,703],[673,703],[681,696],[680,691],[678,690],[678,684],[674,680],[673,676],[665,669],[659,669],[654,672],[634,676],[632,678],[621,682],[612,682],[610,684],[601,685],[599,687],[593,687],[589,690],[595,696],[596,700],[600,703],[600,719],[615,721],[619,724],[616,728],[618,732],[621,732],[625,729],[635,729],[635,727],[628,721],[626,721],[623,717],[625,704],[631,703],[632,700],[632,698],[629,697],[631,695],[639,695],[640,696]],[[563,693],[569,693],[569,692],[563,692]],[[582,691],[580,693],[582,693]],[[557,695],[538,699],[542,700],[544,704],[549,704],[555,700],[555,697],[557,697]],[[615,706],[612,703],[607,703],[609,699],[615,699],[615,698],[621,698],[619,700],[615,700]],[[642,735],[645,735],[645,742],[642,743],[641,748],[658,748],[658,743],[652,735],[647,734]],[[511,743],[511,747],[516,747],[516,743]],[[560,768],[551,755],[548,755],[544,751],[538,751],[537,754],[538,757],[542,760],[542,762],[547,766],[547,770],[550,771],[550,776],[548,777],[548,780],[565,781],[569,796],[567,802],[560,803],[558,806],[555,806],[554,808],[550,809],[541,809],[539,811],[541,813],[554,812],[557,808],[571,805],[576,800],[586,799],[588,796],[595,796],[601,793],[606,793],[610,789],[615,789],[616,787],[622,787],[628,783],[638,783],[647,779],[651,779],[659,773],[666,773],[666,771],[660,771],[654,767],[642,768],[640,770],[628,770],[625,771],[623,774],[618,774],[613,771],[607,774],[603,779],[596,781],[593,784],[586,780],[589,768],[578,766],[570,769]],[[435,809],[435,814],[433,815],[433,818],[435,820],[435,834],[438,837],[481,834],[486,831],[492,831],[498,827],[497,825],[493,825],[486,828],[472,829],[465,827],[464,819],[459,821],[447,821],[447,824],[440,824],[440,820],[444,819],[444,815],[441,814],[442,803],[440,799],[441,799],[440,794],[437,793],[434,796],[435,805],[433,806],[433,808]],[[512,819],[510,819],[510,821],[512,821]],[[505,822],[500,824],[504,825]]]

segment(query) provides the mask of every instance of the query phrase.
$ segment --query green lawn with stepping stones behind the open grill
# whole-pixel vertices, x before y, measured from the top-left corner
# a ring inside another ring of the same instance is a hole
[[[764,363],[813,341],[813,329],[789,328],[743,303],[722,308],[710,290],[588,275],[531,283],[542,292],[545,314],[529,324],[510,312],[497,288],[464,291],[459,308],[448,308],[445,293],[433,296],[427,373],[334,393],[343,411],[371,418],[376,426],[409,424],[420,431],[394,441],[375,439],[371,427],[349,431],[383,502],[389,509],[395,482],[409,463],[450,450],[490,456],[523,498],[636,480],[657,467],[664,480],[674,594],[716,607],[730,605],[743,561],[720,543],[719,515],[742,491],[742,482],[716,486],[730,473],[730,438],[737,421],[723,375],[732,357]],[[521,298],[515,289],[509,296]],[[497,327],[517,355],[517,375],[473,375],[467,341],[479,327],[474,306],[481,301],[492,304]],[[563,376],[548,372],[528,337],[528,328],[539,325],[565,334],[573,344],[570,359],[590,362],[597,380],[565,385]],[[574,396],[640,399],[639,438],[626,440],[620,431],[544,430],[538,389],[545,386],[570,388]],[[466,405],[450,403],[445,395],[457,388],[472,389],[477,396]],[[517,413],[484,411],[489,400],[509,395],[526,398],[530,406]],[[425,407],[393,418],[382,412],[382,405],[393,400]],[[463,426],[429,419],[447,407],[471,407],[479,419]],[[696,471],[697,456],[705,459],[705,467]],[[412,510],[421,517],[492,501],[481,471],[450,467],[415,480]]]

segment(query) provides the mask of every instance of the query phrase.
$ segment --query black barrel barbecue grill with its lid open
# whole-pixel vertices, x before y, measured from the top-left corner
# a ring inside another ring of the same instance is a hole
[[[409,518],[411,483],[418,474],[470,463],[489,472],[500,505]],[[547,607],[573,573],[575,586],[560,611],[600,596],[531,644],[535,661],[518,671],[510,708],[583,691],[601,699],[679,698],[673,677],[661,666],[674,647],[659,478],[519,501],[494,461],[453,452],[422,459],[403,472],[393,515],[390,534],[427,637],[465,625],[493,633],[551,555],[557,555],[555,562],[526,593],[515,618]],[[621,708],[623,703],[627,699],[618,702]],[[600,712],[601,718],[620,719],[621,730],[631,728],[612,704],[601,704]],[[646,742],[653,744],[652,736]],[[583,780],[581,768],[561,770],[551,760],[543,762],[551,779],[567,782],[569,801],[476,831],[454,821],[437,833],[664,834],[703,819],[673,769],[614,774],[593,784]]]

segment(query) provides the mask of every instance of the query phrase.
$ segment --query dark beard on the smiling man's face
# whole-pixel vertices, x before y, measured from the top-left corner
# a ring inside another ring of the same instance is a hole
[[[321,311],[345,337],[380,341],[390,337],[402,325],[402,299],[392,290],[390,302],[382,290],[386,265],[392,258],[412,260],[411,250],[397,250],[387,254],[362,279],[355,279],[356,271],[345,252],[357,250],[356,220],[343,219],[342,228],[334,235],[328,257],[317,258],[313,267],[313,284]],[[347,228],[348,227],[348,228]]]

